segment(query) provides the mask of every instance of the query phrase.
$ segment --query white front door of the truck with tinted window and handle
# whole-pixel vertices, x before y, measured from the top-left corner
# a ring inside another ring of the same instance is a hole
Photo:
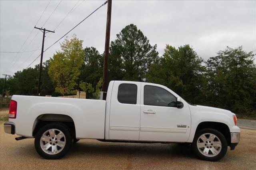
[[[161,85],[141,85],[141,141],[186,142],[190,134],[190,110],[176,107],[179,96]]]

